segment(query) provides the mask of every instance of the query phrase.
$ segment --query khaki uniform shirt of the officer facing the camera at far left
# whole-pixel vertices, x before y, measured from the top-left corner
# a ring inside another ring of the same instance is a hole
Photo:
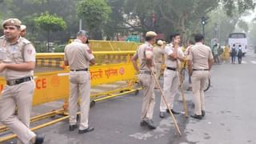
[[[20,37],[17,42],[10,43],[3,36],[0,38],[0,62],[20,64],[35,62],[36,51],[34,46],[26,38]],[[15,71],[6,69],[3,71],[6,80],[33,76],[33,70]]]

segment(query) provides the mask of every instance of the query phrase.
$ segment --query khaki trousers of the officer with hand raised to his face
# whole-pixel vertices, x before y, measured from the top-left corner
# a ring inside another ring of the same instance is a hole
[[[174,97],[178,92],[179,77],[178,71],[165,70],[164,71],[164,81],[163,81],[163,92],[166,96],[166,102],[170,106],[170,109],[174,107]],[[167,106],[161,97],[160,111],[166,112]]]

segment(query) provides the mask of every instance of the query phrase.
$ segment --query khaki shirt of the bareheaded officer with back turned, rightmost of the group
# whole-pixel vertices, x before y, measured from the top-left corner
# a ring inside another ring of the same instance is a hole
[[[208,60],[213,58],[210,47],[201,42],[196,43],[190,49],[189,60],[193,63],[193,69],[209,69]]]

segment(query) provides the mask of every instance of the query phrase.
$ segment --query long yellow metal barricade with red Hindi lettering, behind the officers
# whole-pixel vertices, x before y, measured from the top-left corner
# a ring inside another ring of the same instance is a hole
[[[102,51],[94,52],[97,65],[90,67],[90,84],[91,86],[101,86],[104,84],[124,81],[126,85],[115,90],[104,91],[98,94],[91,94],[91,98],[96,102],[106,98],[113,98],[121,94],[131,92],[137,93],[140,87],[134,86],[136,83],[135,70],[130,58],[134,55],[134,51]],[[53,102],[64,99],[63,108],[54,110],[47,114],[42,114],[31,118],[31,122],[35,122],[44,118],[50,118],[54,115],[63,115],[60,119],[46,122],[43,125],[36,126],[31,130],[38,130],[44,126],[49,126],[55,122],[69,118],[66,113],[67,99],[70,93],[69,86],[69,70],[68,67],[61,66],[63,64],[63,53],[37,54],[37,67],[34,76],[36,89],[34,92],[33,106],[38,106],[46,102]],[[53,66],[52,66],[53,65]],[[55,68],[53,68],[56,66]],[[54,71],[47,71],[54,70]],[[0,77],[0,90],[3,89],[6,82]],[[6,126],[0,126],[0,132],[8,130]],[[16,135],[8,135],[0,138],[0,143]]]

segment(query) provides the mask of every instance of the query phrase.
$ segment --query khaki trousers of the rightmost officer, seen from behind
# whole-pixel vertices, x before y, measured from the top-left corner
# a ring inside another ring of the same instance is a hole
[[[206,80],[209,78],[209,71],[194,70],[192,74],[192,91],[194,98],[194,114],[202,115],[205,110],[204,87]]]

